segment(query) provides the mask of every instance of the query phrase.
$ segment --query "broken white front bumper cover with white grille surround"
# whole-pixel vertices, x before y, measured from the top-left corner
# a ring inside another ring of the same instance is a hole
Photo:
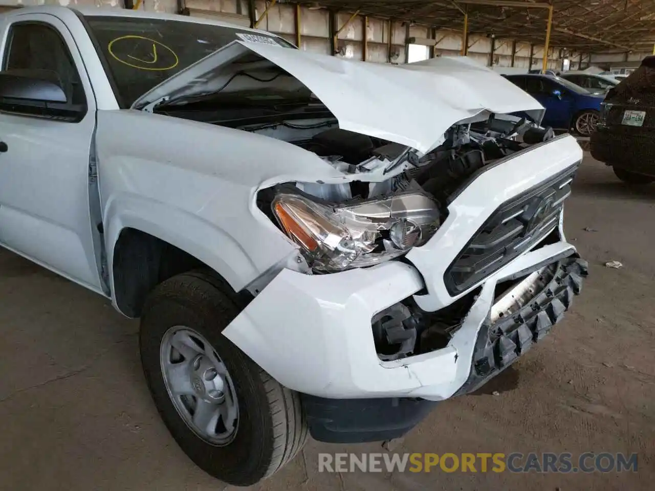
[[[468,378],[477,333],[491,309],[496,282],[574,249],[563,240],[561,221],[562,242],[524,253],[485,278],[447,347],[381,361],[371,318],[423,289],[427,294],[415,299],[424,310],[454,302],[458,297],[445,291],[443,272],[485,219],[502,202],[581,158],[575,139],[564,137],[490,168],[451,204],[448,219],[428,244],[408,255],[416,267],[392,261],[320,276],[282,270],[223,333],[293,390],[331,398],[447,399]]]

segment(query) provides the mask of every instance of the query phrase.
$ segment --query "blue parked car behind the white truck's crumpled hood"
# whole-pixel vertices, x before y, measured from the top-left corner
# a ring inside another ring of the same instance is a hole
[[[554,75],[526,73],[505,77],[546,108],[546,115],[542,121],[544,126],[574,130],[581,136],[590,136],[598,124],[601,102],[605,94],[592,94]]]

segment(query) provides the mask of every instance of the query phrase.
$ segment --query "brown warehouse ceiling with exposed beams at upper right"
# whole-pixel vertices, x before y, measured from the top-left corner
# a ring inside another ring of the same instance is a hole
[[[453,30],[462,29],[466,9],[470,33],[537,44],[544,43],[548,21],[543,0],[321,0],[313,5]],[[551,46],[626,52],[650,50],[654,43],[655,0],[553,0]]]

